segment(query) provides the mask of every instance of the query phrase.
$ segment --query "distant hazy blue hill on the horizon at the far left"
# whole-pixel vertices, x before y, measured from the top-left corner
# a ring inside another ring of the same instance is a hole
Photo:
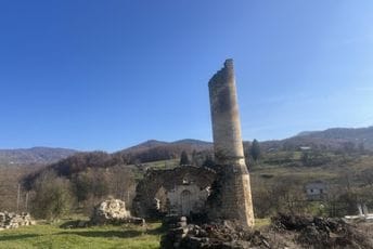
[[[50,147],[0,149],[0,165],[49,165],[75,153],[77,150]]]

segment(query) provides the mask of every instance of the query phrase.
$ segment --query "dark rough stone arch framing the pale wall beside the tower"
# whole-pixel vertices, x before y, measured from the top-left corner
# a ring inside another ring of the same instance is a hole
[[[142,218],[152,217],[154,198],[162,187],[169,192],[188,181],[200,189],[205,189],[211,186],[215,179],[216,172],[204,167],[182,166],[171,170],[147,170],[144,179],[137,185],[132,202],[133,213]]]

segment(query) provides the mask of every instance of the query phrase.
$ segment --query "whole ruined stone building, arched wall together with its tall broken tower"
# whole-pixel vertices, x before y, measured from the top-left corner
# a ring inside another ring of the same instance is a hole
[[[254,225],[232,60],[226,61],[208,88],[216,169],[179,167],[149,171],[138,184],[133,199],[137,215],[149,217],[154,211],[179,215],[204,212],[213,220]]]

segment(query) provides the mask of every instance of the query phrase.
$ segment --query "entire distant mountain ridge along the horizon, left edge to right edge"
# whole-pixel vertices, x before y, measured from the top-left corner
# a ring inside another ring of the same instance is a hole
[[[250,142],[244,141],[247,145]],[[263,150],[297,149],[300,146],[311,146],[327,149],[343,148],[346,143],[356,147],[373,150],[373,126],[365,128],[330,128],[323,131],[304,131],[284,140],[260,141]],[[246,146],[247,147],[247,146]],[[213,143],[202,140],[183,139],[173,142],[147,140],[143,143],[117,150],[112,155],[140,158],[140,161],[151,161],[157,158],[176,158],[181,152],[213,150]],[[0,165],[50,165],[78,153],[75,149],[36,146],[31,148],[0,149]]]

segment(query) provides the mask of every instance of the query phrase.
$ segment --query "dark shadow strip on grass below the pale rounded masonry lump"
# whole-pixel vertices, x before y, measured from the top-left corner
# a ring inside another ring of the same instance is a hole
[[[78,235],[83,237],[103,237],[103,238],[111,238],[111,237],[118,237],[118,238],[133,238],[143,235],[142,232],[136,230],[128,230],[128,231],[70,231],[70,232],[62,232],[57,235]]]

